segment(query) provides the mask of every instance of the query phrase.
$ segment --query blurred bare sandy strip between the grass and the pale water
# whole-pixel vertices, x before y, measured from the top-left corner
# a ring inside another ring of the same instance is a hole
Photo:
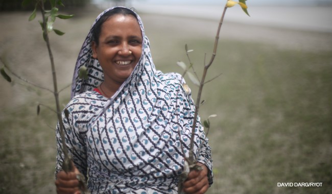
[[[56,21],[55,28],[66,32],[62,37],[55,34],[51,36],[60,88],[72,81],[79,49],[99,12],[100,10],[96,8],[85,8],[74,13],[77,16],[73,19]],[[39,23],[37,19],[29,22],[29,14],[29,12],[0,13],[0,26],[2,27],[0,55],[22,77],[52,88],[50,62],[41,37]],[[152,14],[141,14],[141,18],[152,45],[155,61],[163,55],[163,49],[172,49],[169,44],[170,40],[185,42],[187,39],[214,39],[218,26],[218,18],[212,20]],[[263,42],[277,45],[280,48],[313,52],[332,50],[331,33],[241,25],[234,22],[224,23],[221,38]],[[2,87],[0,107],[2,108],[13,107],[13,104],[20,105],[25,103],[26,99],[42,101],[45,98],[45,96],[36,98],[35,93],[26,92],[26,89],[22,89],[21,86],[12,87],[4,79],[0,79],[0,85]],[[66,96],[68,96],[68,92],[69,89],[65,90]],[[43,95],[52,98],[52,94],[47,92],[44,92]]]

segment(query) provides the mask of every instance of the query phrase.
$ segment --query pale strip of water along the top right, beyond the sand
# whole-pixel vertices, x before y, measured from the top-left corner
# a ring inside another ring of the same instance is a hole
[[[138,12],[172,16],[220,19],[223,6],[158,6],[133,4]],[[265,27],[332,32],[332,7],[249,7],[250,17],[240,6],[228,8],[225,21]]]

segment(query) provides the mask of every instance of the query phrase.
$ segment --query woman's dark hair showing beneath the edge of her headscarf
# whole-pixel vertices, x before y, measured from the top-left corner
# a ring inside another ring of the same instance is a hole
[[[102,25],[103,23],[111,16],[121,14],[121,15],[133,15],[136,19],[136,14],[131,9],[123,8],[123,7],[117,7],[114,9],[109,10],[106,12],[102,17],[99,18],[99,20],[96,22],[96,24],[92,28],[92,40],[96,42],[96,44],[99,44],[99,36],[102,31]]]

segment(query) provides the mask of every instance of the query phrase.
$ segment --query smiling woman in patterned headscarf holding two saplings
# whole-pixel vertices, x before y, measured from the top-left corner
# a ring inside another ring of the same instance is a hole
[[[58,193],[78,191],[78,172],[88,177],[92,193],[177,193],[195,106],[180,75],[155,69],[149,45],[130,9],[110,8],[97,17],[77,60],[69,115],[62,114],[75,172],[61,170],[57,130]],[[87,79],[78,76],[82,66]],[[212,184],[210,147],[200,123],[196,129],[194,154],[202,171],[189,173],[187,193],[204,193]]]

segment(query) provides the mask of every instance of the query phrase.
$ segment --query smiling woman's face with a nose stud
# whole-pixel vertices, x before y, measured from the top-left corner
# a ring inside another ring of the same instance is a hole
[[[122,84],[142,54],[143,38],[133,15],[116,14],[102,25],[99,44],[92,42],[92,57],[98,59],[108,83]]]

